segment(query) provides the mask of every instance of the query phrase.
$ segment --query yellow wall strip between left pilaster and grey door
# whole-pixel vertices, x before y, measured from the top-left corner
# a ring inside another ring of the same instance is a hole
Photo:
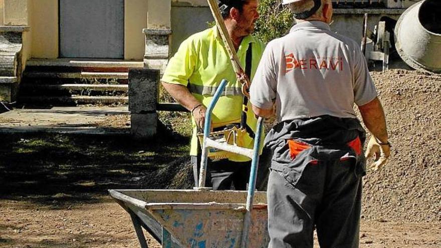
[[[58,58],[58,0],[32,0],[32,57]]]

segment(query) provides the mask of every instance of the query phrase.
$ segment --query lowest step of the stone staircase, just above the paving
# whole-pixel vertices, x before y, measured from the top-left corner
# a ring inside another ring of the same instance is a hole
[[[126,96],[22,96],[20,103],[31,104],[127,104]]]

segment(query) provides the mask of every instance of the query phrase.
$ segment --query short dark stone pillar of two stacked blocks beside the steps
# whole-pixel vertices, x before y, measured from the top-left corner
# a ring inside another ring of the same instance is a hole
[[[150,139],[156,135],[158,83],[158,70],[129,70],[130,132],[136,139]]]

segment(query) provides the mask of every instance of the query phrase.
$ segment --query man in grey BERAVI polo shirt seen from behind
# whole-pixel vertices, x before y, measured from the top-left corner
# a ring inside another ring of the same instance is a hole
[[[271,41],[250,89],[254,112],[279,123],[265,139],[269,247],[358,247],[362,154],[373,170],[389,156],[384,112],[358,45],[330,31],[331,0],[284,0],[297,24]]]

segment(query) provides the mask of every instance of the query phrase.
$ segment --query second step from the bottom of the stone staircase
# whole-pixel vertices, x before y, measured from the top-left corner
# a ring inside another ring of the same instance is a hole
[[[127,92],[129,89],[129,86],[124,84],[25,84],[22,87],[29,90],[93,90],[118,92]]]

